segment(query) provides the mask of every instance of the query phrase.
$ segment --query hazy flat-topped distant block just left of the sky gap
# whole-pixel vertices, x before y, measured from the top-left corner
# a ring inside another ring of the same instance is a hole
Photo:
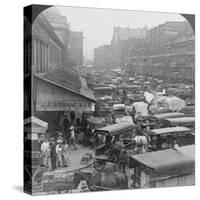
[[[69,54],[75,65],[83,65],[83,32],[70,31]]]

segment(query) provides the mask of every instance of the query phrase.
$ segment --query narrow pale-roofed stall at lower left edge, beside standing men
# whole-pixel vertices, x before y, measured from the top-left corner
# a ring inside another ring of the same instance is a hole
[[[40,168],[40,144],[44,141],[47,128],[48,123],[34,116],[24,120],[25,177],[29,177],[31,180],[29,184],[35,192],[42,190],[43,170]]]

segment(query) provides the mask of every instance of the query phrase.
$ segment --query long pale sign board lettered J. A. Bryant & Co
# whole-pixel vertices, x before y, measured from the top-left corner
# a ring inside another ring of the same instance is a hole
[[[36,104],[37,111],[94,111],[94,103],[91,102],[64,102],[64,101],[40,101]]]

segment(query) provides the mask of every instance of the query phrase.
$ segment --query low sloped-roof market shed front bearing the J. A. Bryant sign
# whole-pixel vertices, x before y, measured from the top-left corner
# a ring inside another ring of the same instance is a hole
[[[58,68],[34,75],[35,116],[49,123],[50,134],[63,130],[63,120],[74,112],[81,120],[84,112],[93,112],[95,98],[85,79],[75,71]]]

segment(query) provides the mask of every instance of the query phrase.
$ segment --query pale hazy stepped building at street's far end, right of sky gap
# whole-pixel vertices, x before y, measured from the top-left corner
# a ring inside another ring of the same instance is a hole
[[[141,47],[147,38],[148,28],[114,27],[110,45],[94,49],[94,65],[101,68],[123,68],[128,64],[130,51]]]

